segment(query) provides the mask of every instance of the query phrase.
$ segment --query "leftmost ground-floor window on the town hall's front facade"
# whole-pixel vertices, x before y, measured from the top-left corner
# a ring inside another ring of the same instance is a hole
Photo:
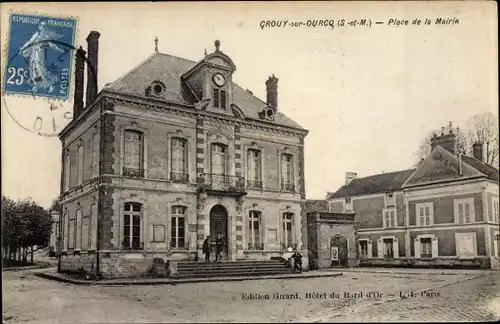
[[[139,203],[126,203],[123,214],[123,248],[137,250],[141,248],[141,213]]]

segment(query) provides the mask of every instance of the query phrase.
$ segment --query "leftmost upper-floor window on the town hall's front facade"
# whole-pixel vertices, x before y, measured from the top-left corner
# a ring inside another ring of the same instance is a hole
[[[143,134],[138,131],[125,131],[124,169],[126,176],[144,177],[143,169]]]

